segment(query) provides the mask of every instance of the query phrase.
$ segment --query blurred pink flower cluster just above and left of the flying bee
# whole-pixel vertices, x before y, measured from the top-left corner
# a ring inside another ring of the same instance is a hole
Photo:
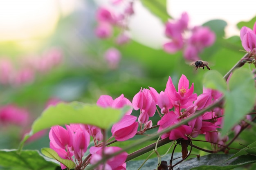
[[[189,61],[200,60],[198,54],[215,42],[215,33],[206,26],[195,26],[189,29],[188,22],[188,14],[182,13],[179,20],[166,23],[165,35],[171,41],[165,43],[163,48],[171,54],[182,50],[184,58]],[[185,32],[190,35],[188,38],[185,38]]]

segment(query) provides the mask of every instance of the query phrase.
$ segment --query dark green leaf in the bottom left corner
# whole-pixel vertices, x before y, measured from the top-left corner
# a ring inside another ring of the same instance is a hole
[[[0,167],[13,170],[54,170],[58,164],[41,155],[38,150],[0,150]]]

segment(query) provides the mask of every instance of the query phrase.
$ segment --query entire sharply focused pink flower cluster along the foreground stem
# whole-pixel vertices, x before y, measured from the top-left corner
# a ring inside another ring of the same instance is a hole
[[[157,122],[159,126],[158,132],[160,132],[178,124],[182,119],[190,117],[196,110],[206,108],[220,99],[221,96],[221,93],[211,89],[203,89],[203,93],[197,95],[194,93],[193,83],[189,87],[189,80],[185,75],[182,75],[178,83],[178,91],[176,91],[172,79],[169,77],[165,90],[160,93],[152,87],[149,87],[149,89],[141,88],[133,97],[132,102],[124,97],[123,94],[116,99],[108,95],[101,95],[97,105],[104,108],[130,106],[130,110],[125,113],[124,117],[112,126],[112,136],[107,140],[115,138],[116,141],[126,141],[135,135],[143,134],[152,127],[153,124],[149,117],[155,115],[157,107],[161,109],[159,112],[161,119]],[[136,121],[136,116],[131,115],[132,108],[140,110],[138,121]],[[171,140],[183,138],[187,140],[188,138],[197,137],[199,134],[204,134],[207,141],[224,144],[227,141],[227,137],[220,138],[218,132],[218,128],[221,128],[222,115],[223,110],[221,108],[214,108],[189,121],[188,124],[164,133],[162,138],[168,137]],[[90,137],[93,139],[94,146],[90,148],[90,155],[86,160],[82,160],[88,149]],[[89,163],[97,163],[102,159],[103,152],[104,155],[108,155],[121,150],[118,147],[103,146],[101,129],[91,125],[71,124],[66,125],[66,129],[61,126],[54,126],[50,130],[49,138],[50,148],[54,149],[63,159],[74,161],[76,166],[80,168]],[[125,170],[126,157],[127,153],[122,152],[120,155],[107,160],[104,165],[98,166],[97,170],[101,170],[103,167],[108,170]],[[82,165],[82,163],[84,164]],[[65,168],[65,166],[61,165],[61,168]]]

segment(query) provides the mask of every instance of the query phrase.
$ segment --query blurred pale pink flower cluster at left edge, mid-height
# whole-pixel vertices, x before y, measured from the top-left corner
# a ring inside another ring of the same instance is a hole
[[[0,84],[20,86],[33,82],[37,73],[46,73],[60,64],[62,53],[53,48],[44,55],[23,57],[14,63],[8,57],[0,59]]]

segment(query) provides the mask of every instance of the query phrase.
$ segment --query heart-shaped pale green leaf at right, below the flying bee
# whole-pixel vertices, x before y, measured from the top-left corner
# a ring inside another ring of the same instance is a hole
[[[255,82],[251,71],[239,68],[229,79],[229,89],[217,71],[207,72],[203,80],[206,88],[213,88],[225,95],[225,116],[222,135],[225,135],[235,124],[252,109],[255,104]]]

